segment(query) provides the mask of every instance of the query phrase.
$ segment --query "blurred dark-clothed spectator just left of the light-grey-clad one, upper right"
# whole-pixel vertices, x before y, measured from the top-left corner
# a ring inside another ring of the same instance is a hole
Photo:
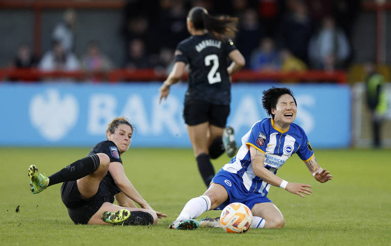
[[[280,47],[308,63],[308,44],[313,33],[313,21],[302,0],[288,0],[289,13],[283,18],[277,35]]]

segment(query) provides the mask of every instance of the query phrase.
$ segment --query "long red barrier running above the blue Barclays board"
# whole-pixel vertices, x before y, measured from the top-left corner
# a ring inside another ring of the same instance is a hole
[[[37,69],[0,69],[0,79],[39,81],[53,78],[72,78],[78,81],[163,81],[166,79],[165,73],[153,69],[138,70],[112,70],[108,72],[85,72],[85,71],[52,71],[43,72]],[[187,74],[183,76],[187,80]],[[233,82],[239,81],[282,81],[282,82],[334,82],[346,83],[347,76],[344,71],[325,72],[319,70],[310,70],[306,72],[264,72],[241,70],[232,76]]]

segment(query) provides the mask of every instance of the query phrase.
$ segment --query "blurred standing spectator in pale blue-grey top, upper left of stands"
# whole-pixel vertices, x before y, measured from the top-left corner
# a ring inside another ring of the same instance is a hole
[[[58,23],[54,30],[53,40],[60,41],[65,52],[73,51],[74,30],[76,27],[76,12],[73,9],[67,9],[64,12],[63,19]]]

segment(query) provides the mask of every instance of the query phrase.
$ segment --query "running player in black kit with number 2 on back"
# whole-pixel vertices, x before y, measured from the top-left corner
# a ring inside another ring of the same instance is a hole
[[[245,60],[231,40],[237,18],[216,18],[206,9],[194,7],[186,20],[191,37],[180,42],[175,51],[174,68],[159,88],[159,103],[167,98],[170,85],[182,78],[189,64],[183,116],[198,168],[209,186],[215,174],[210,158],[215,159],[224,151],[230,157],[235,155],[233,129],[225,128],[230,113],[230,76],[244,66]]]

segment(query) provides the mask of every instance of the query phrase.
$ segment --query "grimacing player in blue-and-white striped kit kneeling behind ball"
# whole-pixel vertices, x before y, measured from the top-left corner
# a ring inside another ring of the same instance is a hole
[[[219,227],[218,218],[194,218],[210,209],[223,209],[233,202],[247,205],[253,212],[252,228],[283,228],[281,211],[267,198],[270,186],[281,187],[304,197],[312,191],[305,183],[292,183],[275,174],[293,153],[304,161],[316,180],[323,183],[332,175],[322,169],[304,130],[293,123],[296,100],[288,88],[272,87],[263,91],[262,103],[271,118],[256,122],[242,137],[237,155],[213,177],[204,195],[188,201],[171,229],[192,230]]]

